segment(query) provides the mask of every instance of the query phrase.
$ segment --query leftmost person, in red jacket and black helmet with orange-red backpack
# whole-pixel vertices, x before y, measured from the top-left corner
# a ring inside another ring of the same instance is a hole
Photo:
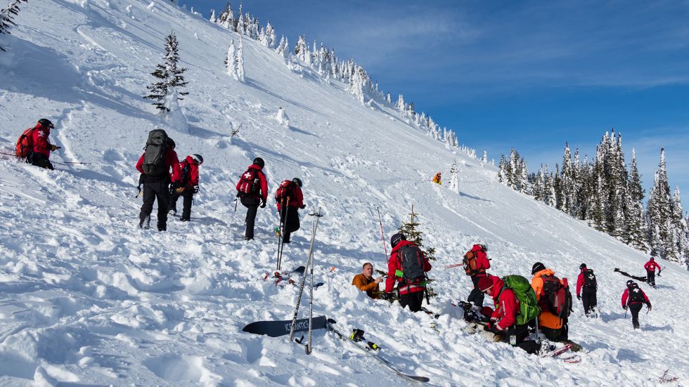
[[[15,154],[26,159],[27,163],[45,169],[54,169],[50,162],[50,152],[60,149],[50,143],[50,130],[55,128],[49,119],[41,118],[35,126],[26,129],[19,137]]]

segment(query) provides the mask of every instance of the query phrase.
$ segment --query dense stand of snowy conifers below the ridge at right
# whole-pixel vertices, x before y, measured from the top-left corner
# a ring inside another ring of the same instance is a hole
[[[631,152],[628,169],[622,135],[614,129],[605,133],[591,161],[585,155],[582,162],[579,149],[572,157],[565,143],[562,165],[555,164],[553,172],[541,164],[537,173],[528,173],[524,159],[510,150],[510,156],[503,155],[498,164],[498,181],[635,249],[689,266],[689,216],[684,214],[679,188],[670,190],[664,149],[645,210],[636,152]]]

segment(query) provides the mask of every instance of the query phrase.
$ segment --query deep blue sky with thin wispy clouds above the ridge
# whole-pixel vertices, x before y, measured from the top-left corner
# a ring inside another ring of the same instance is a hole
[[[207,18],[226,1],[180,0]],[[430,3],[430,4],[423,4]],[[231,1],[237,11],[239,2]],[[274,1],[244,11],[352,56],[383,91],[489,158],[529,170],[584,153],[612,127],[648,193],[664,146],[689,199],[689,1]],[[685,208],[689,202],[683,200]]]

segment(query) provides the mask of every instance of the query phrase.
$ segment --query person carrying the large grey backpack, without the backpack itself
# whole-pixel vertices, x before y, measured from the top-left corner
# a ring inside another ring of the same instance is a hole
[[[167,150],[165,151],[165,171],[159,175],[149,175],[143,171],[143,158],[146,152],[139,157],[136,163],[136,170],[141,172],[139,183],[143,183],[143,204],[139,213],[139,228],[148,228],[150,225],[150,213],[153,212],[153,203],[158,200],[158,231],[167,230],[167,206],[170,202],[170,179],[172,176],[172,188],[181,186],[181,171],[179,170],[179,159],[174,151],[174,141],[167,139]],[[169,170],[172,168],[172,175]]]

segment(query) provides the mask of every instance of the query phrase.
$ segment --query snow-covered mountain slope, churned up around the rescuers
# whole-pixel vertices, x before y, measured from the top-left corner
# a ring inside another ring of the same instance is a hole
[[[643,254],[496,183],[493,167],[447,149],[392,108],[363,107],[344,85],[290,69],[250,40],[247,81],[233,81],[223,60],[236,35],[169,1],[30,1],[16,21],[11,50],[0,53],[1,152],[46,117],[62,147],[53,160],[91,164],[46,171],[1,158],[1,384],[404,385],[324,331],[314,334],[311,355],[284,338],[240,332],[248,322],[291,318],[297,298],[297,287],[263,280],[275,265],[274,207],[259,210],[253,242],[243,241],[245,210],[234,211],[238,175],[257,156],[272,191],[300,177],[307,205],[326,214],[316,235],[316,281],[325,284],[314,291],[315,313],[343,330],[364,329],[406,372],[439,386],[651,386],[669,369],[675,384],[689,383],[685,270],[667,265],[658,289],[642,285],[654,308],[633,331],[619,306],[626,279],[612,269],[640,275]],[[141,96],[170,31],[188,67],[190,131],[169,134],[181,156],[203,155],[202,190],[191,223],[142,232],[134,164],[148,131],[165,126]],[[289,128],[273,119],[278,107]],[[429,181],[438,170],[449,175],[454,159],[459,194]],[[363,262],[385,270],[376,207],[389,237],[411,204],[426,246],[437,248],[439,296],[430,308],[439,320],[349,285]],[[304,264],[305,212],[283,267]],[[574,284],[581,262],[595,270],[602,316],[586,319],[577,303],[570,320],[570,338],[585,348],[581,363],[461,331],[450,303],[465,299],[471,282],[442,266],[479,240],[489,244],[496,275],[530,277],[541,261]]]

